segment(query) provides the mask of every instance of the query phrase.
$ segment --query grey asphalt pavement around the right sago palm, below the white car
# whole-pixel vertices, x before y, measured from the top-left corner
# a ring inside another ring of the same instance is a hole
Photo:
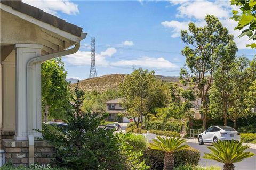
[[[207,146],[211,146],[210,144],[199,145],[198,143],[190,143],[190,142],[187,142],[187,144],[200,151],[201,160],[199,161],[199,165],[202,165],[202,166],[217,165],[220,167],[223,166],[222,163],[203,158],[204,152],[210,152],[210,150],[207,148]],[[256,154],[256,149],[247,149],[246,151],[250,151],[250,152],[253,152],[254,154]],[[256,169],[256,156],[244,159],[242,162],[235,163],[235,166],[236,166],[235,167],[236,170],[255,170]]]

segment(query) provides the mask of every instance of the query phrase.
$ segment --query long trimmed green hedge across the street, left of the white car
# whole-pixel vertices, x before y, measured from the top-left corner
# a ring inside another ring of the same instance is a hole
[[[146,123],[147,130],[173,131],[178,133],[181,133],[183,126],[186,126],[186,122],[169,121],[164,123],[159,121],[148,121]]]

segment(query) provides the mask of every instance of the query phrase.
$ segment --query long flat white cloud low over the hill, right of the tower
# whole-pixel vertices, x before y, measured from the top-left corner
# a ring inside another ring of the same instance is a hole
[[[177,65],[171,63],[163,57],[154,58],[154,57],[141,57],[136,60],[120,60],[117,62],[110,63],[112,66],[136,66],[157,68],[157,69],[174,69],[178,68]]]

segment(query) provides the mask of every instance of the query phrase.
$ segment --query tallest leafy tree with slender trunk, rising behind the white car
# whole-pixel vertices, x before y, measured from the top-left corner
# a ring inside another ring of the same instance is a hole
[[[204,129],[207,128],[209,90],[216,66],[214,53],[218,45],[226,46],[233,40],[233,35],[228,34],[227,28],[223,27],[215,16],[206,15],[205,21],[205,27],[196,27],[194,23],[189,23],[190,33],[186,30],[181,31],[182,41],[190,46],[182,50],[189,72],[185,68],[180,72],[181,83],[195,90],[196,95],[201,98]]]

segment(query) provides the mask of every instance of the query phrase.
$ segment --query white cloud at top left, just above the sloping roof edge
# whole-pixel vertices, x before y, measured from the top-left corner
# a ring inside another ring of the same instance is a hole
[[[55,16],[58,16],[58,11],[69,15],[76,15],[79,13],[78,5],[69,0],[22,0],[22,2],[40,8],[44,12]]]

